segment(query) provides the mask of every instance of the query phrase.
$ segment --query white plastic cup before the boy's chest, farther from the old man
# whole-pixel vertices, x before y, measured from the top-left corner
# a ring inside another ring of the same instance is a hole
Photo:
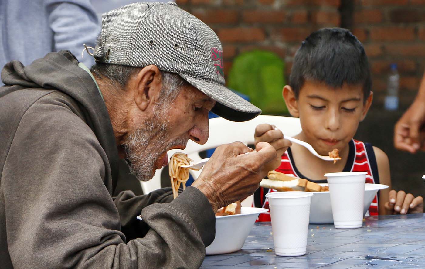
[[[327,173],[334,226],[338,229],[363,226],[366,172]]]

